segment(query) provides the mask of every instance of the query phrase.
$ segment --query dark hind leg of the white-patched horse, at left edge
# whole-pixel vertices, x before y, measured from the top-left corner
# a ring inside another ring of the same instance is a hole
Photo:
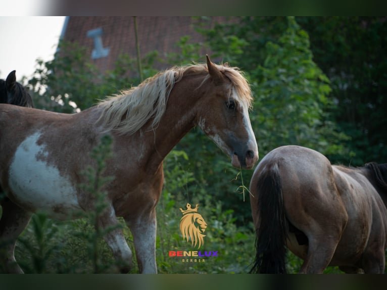
[[[15,205],[8,198],[2,202],[3,214],[0,220],[0,255],[4,270],[8,273],[23,274],[15,259],[17,237],[28,225],[32,214]]]

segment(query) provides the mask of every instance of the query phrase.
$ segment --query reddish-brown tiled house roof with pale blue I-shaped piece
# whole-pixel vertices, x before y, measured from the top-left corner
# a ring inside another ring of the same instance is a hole
[[[224,17],[212,17],[211,21],[222,21]],[[162,58],[171,52],[178,52],[176,42],[182,36],[189,35],[191,43],[200,43],[203,36],[193,28],[191,17],[157,16],[136,17],[140,56],[158,51]],[[68,17],[61,39],[77,42],[85,46],[87,53],[101,73],[114,68],[122,54],[136,58],[134,17]],[[93,52],[94,51],[94,52]],[[99,52],[98,52],[99,51]],[[203,56],[206,52],[203,51]],[[99,57],[102,56],[102,57]],[[171,66],[157,63],[155,68],[165,69]]]

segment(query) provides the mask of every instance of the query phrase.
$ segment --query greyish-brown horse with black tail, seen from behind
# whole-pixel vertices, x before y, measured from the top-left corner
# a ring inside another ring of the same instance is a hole
[[[252,272],[285,273],[287,247],[304,260],[301,273],[327,266],[384,273],[387,164],[332,166],[314,150],[283,146],[258,164],[250,191],[257,230]]]

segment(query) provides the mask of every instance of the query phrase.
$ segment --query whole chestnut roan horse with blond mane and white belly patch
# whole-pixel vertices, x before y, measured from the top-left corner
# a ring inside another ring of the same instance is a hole
[[[105,174],[109,206],[99,226],[123,217],[133,234],[141,273],[157,273],[156,213],[163,186],[163,160],[198,125],[232,165],[251,169],[258,148],[249,119],[251,89],[237,68],[206,64],[176,67],[157,74],[121,95],[77,114],[58,114],[0,105],[0,182],[7,198],[0,220],[8,243],[3,263],[21,273],[15,240],[37,210],[66,219],[74,211],[93,210],[90,192],[77,186],[92,163],[89,152],[105,134],[113,138],[113,157]],[[17,125],[15,125],[17,120]],[[104,239],[116,259],[132,260],[121,229]]]

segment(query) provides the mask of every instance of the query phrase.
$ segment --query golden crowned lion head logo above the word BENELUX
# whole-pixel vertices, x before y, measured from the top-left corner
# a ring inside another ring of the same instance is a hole
[[[199,244],[198,249],[204,244],[206,235],[204,232],[207,228],[207,223],[201,214],[198,213],[199,204],[196,204],[195,208],[191,208],[191,205],[187,203],[186,210],[180,208],[183,217],[180,219],[180,231],[183,234],[183,239],[189,241],[191,238],[191,245],[195,242],[195,247]]]

